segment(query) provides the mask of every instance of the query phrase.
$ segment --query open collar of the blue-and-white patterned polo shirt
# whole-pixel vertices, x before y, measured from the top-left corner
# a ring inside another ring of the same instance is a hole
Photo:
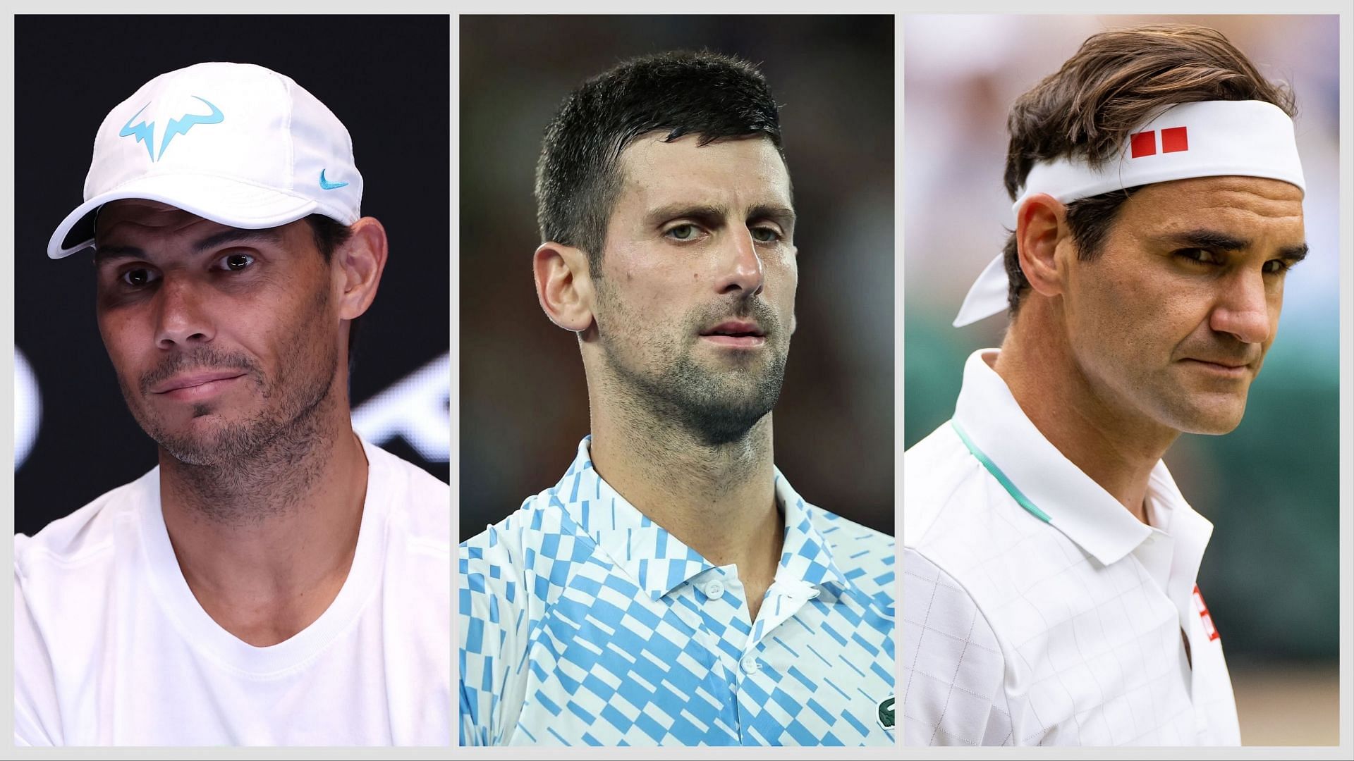
[[[653,600],[666,596],[714,563],[640,513],[593,469],[589,443],[578,443],[578,455],[555,485],[558,506],[589,535],[623,573]],[[846,575],[833,562],[831,546],[812,524],[812,505],[776,473],[776,502],[785,516],[785,539],[776,569],[776,585],[799,586],[804,597],[826,584],[846,586]]]

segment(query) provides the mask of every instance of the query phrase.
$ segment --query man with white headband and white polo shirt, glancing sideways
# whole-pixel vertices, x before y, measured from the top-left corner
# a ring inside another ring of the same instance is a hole
[[[904,456],[909,745],[1239,745],[1163,452],[1225,433],[1307,253],[1293,102],[1223,35],[1091,37],[1011,108],[1007,311]]]

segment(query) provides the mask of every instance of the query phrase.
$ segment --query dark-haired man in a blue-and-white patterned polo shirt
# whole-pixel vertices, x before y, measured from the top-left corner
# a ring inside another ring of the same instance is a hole
[[[589,80],[536,196],[592,435],[462,544],[462,743],[892,743],[894,540],[772,463],[798,269],[761,73],[669,53]]]

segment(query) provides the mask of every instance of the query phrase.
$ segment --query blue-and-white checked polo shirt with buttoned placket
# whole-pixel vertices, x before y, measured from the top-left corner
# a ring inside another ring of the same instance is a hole
[[[894,743],[891,536],[777,470],[784,551],[751,623],[737,567],[645,517],[588,444],[460,546],[462,745]]]

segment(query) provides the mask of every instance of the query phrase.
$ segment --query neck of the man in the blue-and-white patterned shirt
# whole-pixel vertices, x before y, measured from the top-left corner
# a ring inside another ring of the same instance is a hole
[[[756,619],[784,542],[770,414],[738,440],[711,445],[670,420],[635,420],[643,413],[634,408],[621,412],[594,404],[592,410],[598,475],[711,563],[737,565]]]

